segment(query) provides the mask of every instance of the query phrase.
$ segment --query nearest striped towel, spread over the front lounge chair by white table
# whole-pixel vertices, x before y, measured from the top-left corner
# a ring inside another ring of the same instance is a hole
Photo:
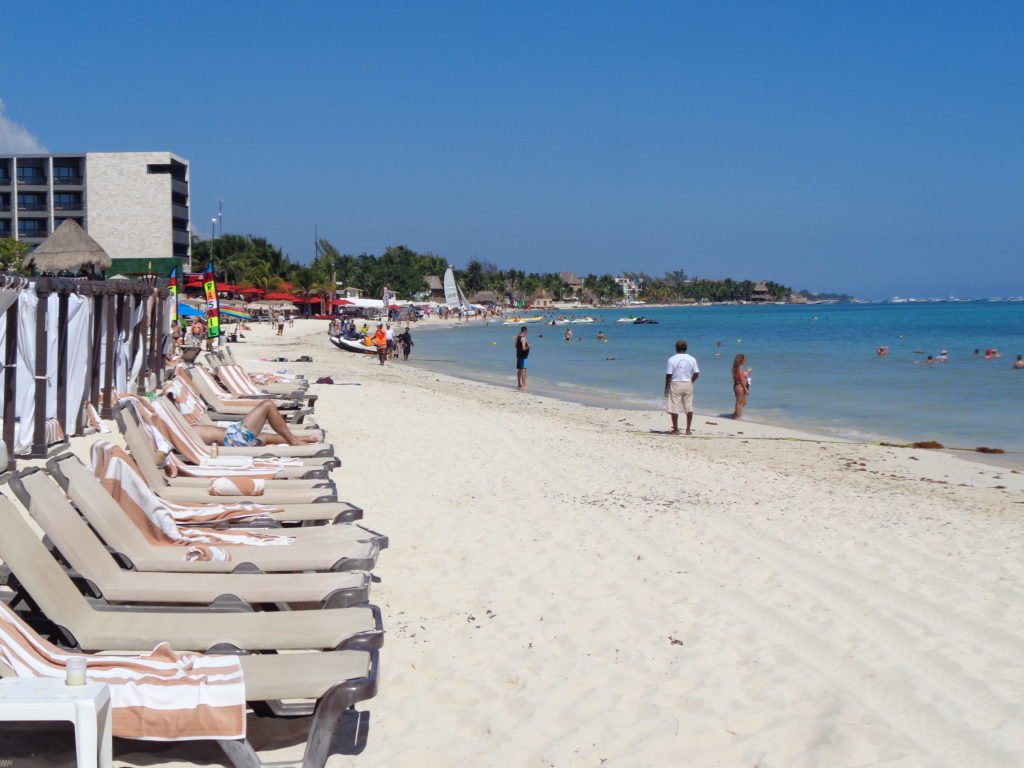
[[[0,603],[0,660],[18,677],[62,678],[73,657],[85,657],[89,680],[110,685],[115,736],[245,738],[246,688],[238,656],[177,653],[167,643],[141,656],[68,653]]]

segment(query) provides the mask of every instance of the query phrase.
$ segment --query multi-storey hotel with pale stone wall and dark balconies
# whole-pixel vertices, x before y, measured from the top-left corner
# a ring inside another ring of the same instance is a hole
[[[109,274],[168,272],[172,259],[190,269],[188,161],[169,152],[0,155],[0,238],[35,247],[66,219],[110,254]]]

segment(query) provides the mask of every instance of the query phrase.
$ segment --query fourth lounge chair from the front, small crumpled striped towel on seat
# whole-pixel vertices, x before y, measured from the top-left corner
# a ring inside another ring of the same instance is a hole
[[[182,562],[189,563],[186,570],[213,573],[253,568],[266,572],[372,570],[380,550],[387,546],[386,537],[353,523],[288,530],[182,525],[179,530],[184,530],[173,534],[167,523],[148,517],[130,494],[122,494],[120,503],[115,501],[81,463],[76,467],[74,461],[66,461],[61,471],[71,501],[106,545],[138,570],[182,570]],[[56,481],[40,474],[38,468],[17,473],[10,485],[30,511],[39,504],[58,504],[63,498]],[[236,540],[254,543],[236,544]]]

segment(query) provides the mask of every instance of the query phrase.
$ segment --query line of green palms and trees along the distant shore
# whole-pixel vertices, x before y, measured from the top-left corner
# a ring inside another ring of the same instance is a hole
[[[210,258],[210,241],[193,241],[193,261],[197,268]],[[287,283],[295,293],[328,298],[334,283],[360,288],[366,296],[379,297],[384,286],[402,298],[427,296],[426,275],[441,278],[447,268],[443,256],[417,253],[406,246],[388,246],[380,256],[362,253],[343,254],[329,241],[316,244],[316,257],[310,264],[297,264],[263,238],[251,234],[224,234],[213,246],[214,269],[226,283],[273,291]],[[755,294],[752,281],[691,279],[682,269],[652,278],[643,272],[624,272],[636,286],[634,298],[648,302],[745,301]],[[624,297],[622,286],[611,274],[587,274],[577,285],[567,283],[558,272],[524,272],[499,269],[495,264],[473,259],[456,278],[472,296],[478,291],[493,291],[497,297],[511,296],[515,301],[546,298],[554,301],[579,298],[584,302],[612,303]],[[791,289],[766,283],[768,295],[784,300]]]

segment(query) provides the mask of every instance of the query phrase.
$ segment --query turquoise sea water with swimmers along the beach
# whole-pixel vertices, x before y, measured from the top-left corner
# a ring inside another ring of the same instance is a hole
[[[614,323],[641,312],[658,325]],[[584,338],[579,342],[563,340],[562,325],[529,326],[531,390],[591,404],[660,410],[665,360],[682,337],[700,366],[698,413],[732,412],[730,367],[733,355],[743,352],[754,369],[744,413],[752,421],[856,439],[1024,452],[1024,371],[1011,369],[1024,352],[1022,302],[693,306],[590,314],[603,322],[571,326]],[[607,343],[595,340],[598,331]],[[425,368],[514,386],[517,333],[518,327],[495,322],[414,330],[414,357]],[[889,355],[879,357],[878,346],[888,346]],[[982,353],[996,348],[1004,356],[973,357],[976,348]],[[943,349],[947,362],[923,365],[928,354],[938,356]]]

